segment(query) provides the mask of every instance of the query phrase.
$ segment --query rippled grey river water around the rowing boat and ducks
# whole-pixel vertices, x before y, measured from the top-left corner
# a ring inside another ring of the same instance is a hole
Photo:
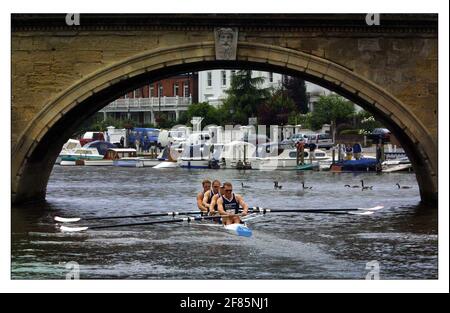
[[[192,211],[204,178],[231,181],[250,206],[385,209],[370,216],[269,213],[249,223],[251,238],[186,224],[67,234],[52,220]],[[344,187],[361,179],[373,190]],[[303,191],[302,181],[313,188]],[[412,188],[399,190],[397,182]],[[76,265],[81,279],[365,279],[374,271],[381,279],[437,279],[437,208],[419,202],[408,173],[55,166],[46,203],[12,208],[11,276],[65,279]]]

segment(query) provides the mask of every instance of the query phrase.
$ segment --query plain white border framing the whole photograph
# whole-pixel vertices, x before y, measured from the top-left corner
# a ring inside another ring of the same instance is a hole
[[[326,2],[326,4],[325,4]],[[73,5],[73,6],[72,6]],[[147,8],[145,7],[147,6]],[[139,10],[137,10],[139,8]],[[288,0],[245,2],[238,0],[213,3],[213,1],[150,2],[128,0],[126,2],[94,2],[78,0],[64,3],[58,1],[21,1],[1,3],[1,105],[3,145],[0,164],[3,173],[10,173],[10,13],[439,13],[439,280],[438,281],[11,281],[10,280],[10,177],[1,178],[1,237],[0,237],[0,291],[3,292],[448,292],[449,290],[449,189],[448,177],[448,106],[449,106],[449,16],[448,2],[392,1],[302,1]]]

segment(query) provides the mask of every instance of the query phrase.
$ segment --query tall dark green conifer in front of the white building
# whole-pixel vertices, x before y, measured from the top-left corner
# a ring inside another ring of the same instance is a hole
[[[250,70],[237,71],[226,90],[221,109],[223,121],[245,125],[249,117],[255,117],[258,107],[270,96],[268,88],[260,88],[263,82],[263,77],[252,77]]]

